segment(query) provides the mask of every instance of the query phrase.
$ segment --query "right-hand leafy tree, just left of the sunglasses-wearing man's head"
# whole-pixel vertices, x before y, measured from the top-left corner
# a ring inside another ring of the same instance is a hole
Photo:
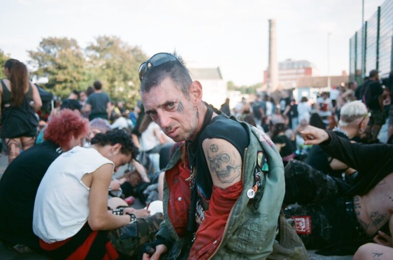
[[[94,79],[112,99],[136,103],[139,99],[139,65],[147,59],[138,47],[123,42],[117,36],[98,36],[86,48],[88,66]]]

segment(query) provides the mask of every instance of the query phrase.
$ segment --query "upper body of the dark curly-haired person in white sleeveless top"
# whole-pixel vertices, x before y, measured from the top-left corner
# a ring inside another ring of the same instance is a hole
[[[138,154],[131,138],[124,131],[112,130],[97,134],[92,145],[60,155],[39,185],[33,231],[43,245],[63,243],[86,224],[93,231],[112,230],[149,215],[145,209],[124,208],[122,216],[107,210],[107,191],[114,169]]]

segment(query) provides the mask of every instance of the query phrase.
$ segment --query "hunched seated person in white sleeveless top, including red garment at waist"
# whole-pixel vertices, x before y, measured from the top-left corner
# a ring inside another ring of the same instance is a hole
[[[107,210],[114,170],[138,154],[130,136],[112,130],[96,134],[91,144],[92,148],[75,147],[59,156],[38,187],[33,231],[50,258],[117,259],[121,248],[115,247],[127,234],[115,231],[120,235],[110,240],[107,230],[130,225],[126,230],[134,230],[134,221],[149,215],[148,210],[133,208]],[[154,234],[157,228],[147,230]]]

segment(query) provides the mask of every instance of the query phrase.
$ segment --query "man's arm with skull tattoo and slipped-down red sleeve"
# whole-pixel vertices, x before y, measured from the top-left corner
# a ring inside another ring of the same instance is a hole
[[[189,259],[207,259],[220,245],[230,211],[243,190],[242,158],[224,139],[205,139],[202,143],[213,180],[209,209],[204,212]]]

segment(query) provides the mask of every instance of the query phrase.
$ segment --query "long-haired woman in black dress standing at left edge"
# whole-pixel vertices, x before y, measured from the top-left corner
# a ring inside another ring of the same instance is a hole
[[[37,135],[38,119],[35,111],[42,106],[37,87],[29,82],[24,63],[9,59],[4,64],[7,79],[1,80],[0,104],[2,138],[8,147],[8,163],[23,151],[32,147]]]

